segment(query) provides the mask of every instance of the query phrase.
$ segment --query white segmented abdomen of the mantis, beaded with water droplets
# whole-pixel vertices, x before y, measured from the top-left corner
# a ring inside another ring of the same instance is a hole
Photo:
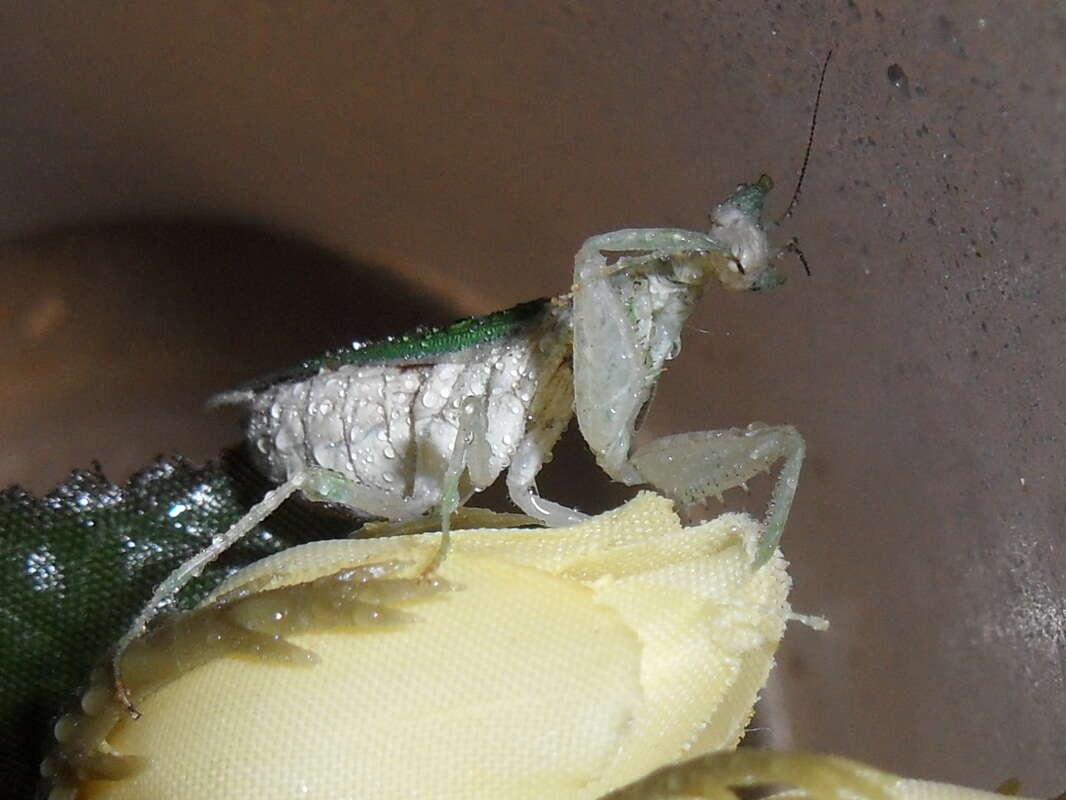
[[[398,519],[439,502],[464,431],[465,500],[507,467],[535,418],[538,391],[560,368],[545,343],[508,337],[434,364],[341,366],[271,386],[245,398],[252,450],[278,483],[322,467],[361,490],[359,511]]]

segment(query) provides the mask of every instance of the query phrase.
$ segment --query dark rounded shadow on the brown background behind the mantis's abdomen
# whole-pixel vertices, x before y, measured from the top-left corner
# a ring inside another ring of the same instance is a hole
[[[123,482],[160,453],[215,458],[241,434],[236,413],[204,407],[211,395],[353,339],[463,316],[387,267],[211,219],[6,243],[0,293],[0,485],[38,494],[93,461]],[[540,490],[588,511],[632,494],[572,430]],[[500,487],[482,502],[510,508]]]

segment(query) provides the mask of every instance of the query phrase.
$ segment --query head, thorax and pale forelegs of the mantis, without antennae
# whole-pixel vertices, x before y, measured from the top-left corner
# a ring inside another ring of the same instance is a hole
[[[758,224],[763,176],[720,204],[709,234],[628,228],[588,239],[575,258],[575,409],[600,467],[630,485],[649,483],[685,503],[718,497],[784,461],[755,557],[770,558],[788,518],[804,444],[790,426],[685,433],[632,452],[632,437],[681,331],[713,276],[729,289],[779,283]]]

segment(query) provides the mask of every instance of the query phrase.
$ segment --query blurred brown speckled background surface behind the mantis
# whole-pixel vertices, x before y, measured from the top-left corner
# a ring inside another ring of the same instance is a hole
[[[251,228],[9,245],[0,480],[37,489],[207,455],[236,431],[210,393],[564,290],[589,234],[699,227],[763,171],[782,209],[836,47],[782,230],[814,276],[709,292],[648,428],[807,436],[785,546],[833,628],[790,633],[772,739],[1061,790],[1060,4],[100,7],[0,10],[0,234],[221,214],[343,259]]]

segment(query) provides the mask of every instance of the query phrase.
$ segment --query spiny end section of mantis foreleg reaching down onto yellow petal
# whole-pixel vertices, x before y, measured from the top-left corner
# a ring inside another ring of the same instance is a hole
[[[771,557],[785,530],[795,496],[805,446],[792,426],[699,431],[663,436],[642,447],[630,463],[645,481],[682,503],[702,502],[742,485],[784,461],[770,498],[755,566]]]

